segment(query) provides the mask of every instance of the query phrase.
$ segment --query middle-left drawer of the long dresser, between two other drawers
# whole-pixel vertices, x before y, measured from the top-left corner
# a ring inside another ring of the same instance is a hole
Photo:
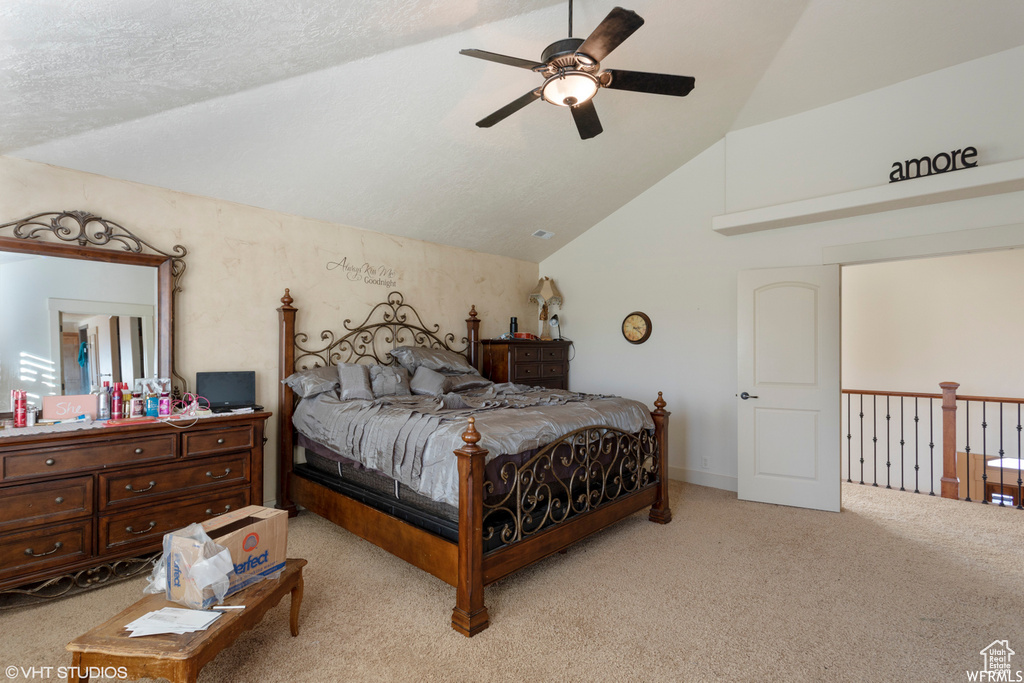
[[[0,531],[50,524],[92,513],[92,477],[0,488]]]

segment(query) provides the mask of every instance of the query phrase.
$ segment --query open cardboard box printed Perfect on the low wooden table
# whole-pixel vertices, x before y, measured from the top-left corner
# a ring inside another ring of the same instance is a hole
[[[233,570],[227,575],[227,595],[269,578],[285,568],[288,552],[288,512],[251,505],[214,517],[203,523],[213,542],[231,555]],[[216,601],[210,591],[202,592],[189,581],[191,567],[208,557],[204,544],[172,532],[164,541],[167,563],[167,599],[194,608],[209,607]]]

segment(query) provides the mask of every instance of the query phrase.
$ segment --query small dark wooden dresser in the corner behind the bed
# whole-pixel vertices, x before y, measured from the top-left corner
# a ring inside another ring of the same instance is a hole
[[[569,388],[568,341],[480,340],[480,372],[494,382]]]

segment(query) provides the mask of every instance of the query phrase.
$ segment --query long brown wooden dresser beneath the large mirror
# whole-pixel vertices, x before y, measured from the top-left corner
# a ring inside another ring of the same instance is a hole
[[[0,437],[0,590],[157,551],[167,531],[261,505],[268,417]]]

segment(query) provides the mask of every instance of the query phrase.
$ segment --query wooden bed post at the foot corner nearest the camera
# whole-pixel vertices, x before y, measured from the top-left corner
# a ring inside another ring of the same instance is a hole
[[[478,446],[476,420],[462,435],[466,442],[455,452],[459,457],[459,580],[456,586],[452,628],[464,636],[475,636],[490,625],[483,605],[483,460],[487,451]]]

